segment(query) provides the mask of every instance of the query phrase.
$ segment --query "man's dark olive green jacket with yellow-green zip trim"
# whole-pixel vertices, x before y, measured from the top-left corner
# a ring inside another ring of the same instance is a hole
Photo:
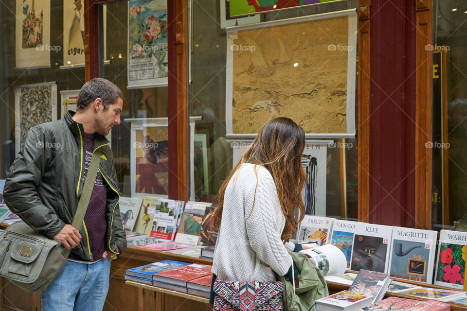
[[[71,112],[74,114],[73,112]],[[66,224],[72,224],[83,190],[86,138],[83,125],[67,112],[63,119],[34,126],[10,167],[3,189],[7,206],[38,233],[52,239]],[[17,138],[19,139],[19,138]],[[109,141],[95,133],[93,150],[101,149],[99,172],[107,183],[106,248],[126,250],[126,234],[120,219],[120,198]],[[84,221],[83,221],[84,223]],[[92,258],[86,224],[81,242],[72,249],[85,260]]]

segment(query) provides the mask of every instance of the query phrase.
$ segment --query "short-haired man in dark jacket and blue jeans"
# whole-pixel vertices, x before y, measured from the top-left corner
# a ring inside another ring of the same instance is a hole
[[[37,232],[72,249],[41,294],[43,310],[102,310],[110,258],[126,250],[116,172],[105,138],[120,123],[123,100],[110,81],[87,82],[79,92],[77,112],[31,128],[10,167],[4,188],[8,207]],[[78,232],[71,224],[97,148],[99,170]]]

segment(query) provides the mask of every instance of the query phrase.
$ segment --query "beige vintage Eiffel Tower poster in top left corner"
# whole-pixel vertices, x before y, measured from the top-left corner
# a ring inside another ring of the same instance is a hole
[[[50,0],[16,0],[16,68],[50,67]]]

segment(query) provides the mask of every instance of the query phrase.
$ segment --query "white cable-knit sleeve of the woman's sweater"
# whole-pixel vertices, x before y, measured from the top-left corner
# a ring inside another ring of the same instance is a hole
[[[277,191],[272,177],[264,178],[264,174],[260,176],[259,173],[256,195],[252,189],[245,204],[247,235],[259,259],[278,275],[284,276],[292,265],[292,257],[281,240],[280,220],[275,217],[275,208],[280,208]]]

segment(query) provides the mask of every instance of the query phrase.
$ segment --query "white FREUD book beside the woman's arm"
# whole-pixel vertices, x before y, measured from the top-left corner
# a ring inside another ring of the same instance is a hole
[[[319,246],[326,244],[333,220],[330,217],[305,215],[300,222],[298,240],[316,242]]]

